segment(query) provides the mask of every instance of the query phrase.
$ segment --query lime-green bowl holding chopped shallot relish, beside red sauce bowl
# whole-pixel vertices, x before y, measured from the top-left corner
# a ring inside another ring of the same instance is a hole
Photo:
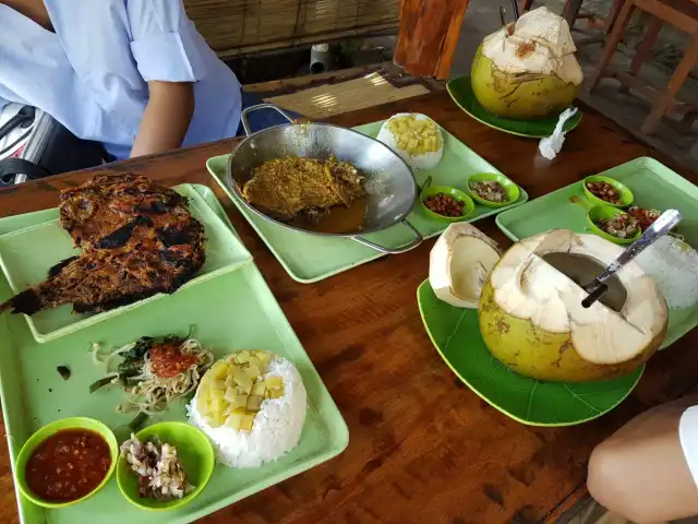
[[[142,429],[135,436],[141,442],[158,437],[160,441],[174,445],[188,481],[194,486],[194,490],[181,499],[142,499],[139,496],[139,479],[131,473],[125,458],[120,456],[117,464],[117,483],[129,502],[143,510],[167,511],[189,504],[203,492],[216,466],[214,445],[206,433],[186,422],[159,422]]]

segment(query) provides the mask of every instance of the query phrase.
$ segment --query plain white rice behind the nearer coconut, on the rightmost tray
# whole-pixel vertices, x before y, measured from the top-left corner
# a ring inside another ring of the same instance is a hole
[[[654,279],[670,309],[698,303],[698,252],[686,242],[665,235],[635,260]]]

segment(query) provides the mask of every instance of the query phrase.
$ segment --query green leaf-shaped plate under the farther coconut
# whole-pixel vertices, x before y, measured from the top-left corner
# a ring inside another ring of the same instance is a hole
[[[550,136],[555,130],[559,115],[542,118],[539,120],[512,120],[508,118],[495,117],[480,105],[472,92],[470,75],[458,76],[446,84],[448,94],[464,111],[479,122],[493,129],[498,129],[505,133],[527,136],[531,139],[542,139]],[[577,114],[565,122],[565,131],[571,131],[581,122],[582,114]]]

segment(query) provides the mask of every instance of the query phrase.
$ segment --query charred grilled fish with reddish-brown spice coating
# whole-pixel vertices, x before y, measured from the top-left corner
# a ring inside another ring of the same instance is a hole
[[[63,303],[80,313],[107,311],[173,293],[204,264],[204,228],[186,199],[145,177],[97,176],[62,191],[59,211],[83,252],[0,305],[0,312],[34,314]]]

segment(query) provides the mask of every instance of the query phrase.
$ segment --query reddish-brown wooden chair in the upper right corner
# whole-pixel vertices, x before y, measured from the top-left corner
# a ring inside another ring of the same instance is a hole
[[[610,23],[613,31],[591,78],[589,91],[593,92],[602,79],[614,78],[621,82],[623,91],[629,92],[631,90],[641,98],[652,103],[652,110],[641,127],[643,133],[651,134],[662,120],[662,117],[671,110],[678,110],[684,114],[683,129],[686,130],[693,124],[696,115],[698,115],[698,106],[676,100],[676,94],[698,62],[698,0],[621,0],[616,1],[616,7],[619,7],[617,19]],[[623,72],[612,67],[611,60],[633,14],[637,10],[651,14],[652,20],[647,34],[637,47],[630,70]],[[637,75],[642,63],[649,57],[663,24],[671,24],[677,29],[689,34],[693,40],[686,49],[681,63],[669,80],[666,87],[658,91],[638,80]]]

